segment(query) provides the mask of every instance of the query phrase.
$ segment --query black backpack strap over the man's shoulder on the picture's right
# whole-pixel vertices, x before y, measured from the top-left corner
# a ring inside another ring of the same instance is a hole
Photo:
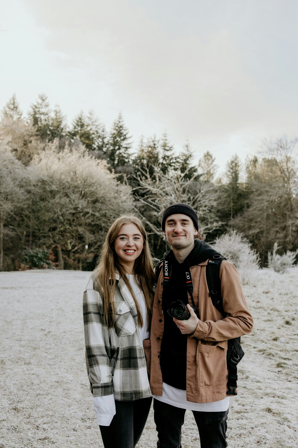
[[[214,254],[212,258],[209,258],[206,266],[206,280],[209,289],[209,295],[215,308],[222,314],[223,317],[226,313],[222,306],[222,294],[221,294],[221,279],[219,276],[220,266],[222,260],[227,258],[222,257],[220,254]]]

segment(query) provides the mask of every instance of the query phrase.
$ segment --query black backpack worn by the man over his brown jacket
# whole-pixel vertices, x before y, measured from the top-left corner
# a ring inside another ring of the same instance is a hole
[[[168,252],[164,254],[164,258],[167,256],[167,254]],[[164,258],[161,258],[155,267],[156,283],[159,279],[159,274],[161,271]],[[227,313],[224,312],[222,306],[222,294],[221,294],[219,271],[220,271],[220,265],[222,264],[222,260],[226,259],[227,258],[222,257],[219,254],[214,254],[212,258],[209,258],[206,266],[206,280],[209,289],[209,295],[211,297],[213,305],[222,314],[223,318],[227,316]],[[238,379],[237,364],[241,361],[243,356],[244,352],[241,347],[241,338],[237,337],[234,339],[228,339],[227,366],[229,368],[229,373],[227,381],[227,387],[228,387],[227,395],[237,395],[236,392],[237,379]]]

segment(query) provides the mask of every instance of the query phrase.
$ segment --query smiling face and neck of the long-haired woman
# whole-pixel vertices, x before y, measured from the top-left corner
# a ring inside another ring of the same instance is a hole
[[[123,224],[114,241],[118,262],[128,274],[133,274],[134,260],[141,254],[144,246],[142,233],[133,224]]]

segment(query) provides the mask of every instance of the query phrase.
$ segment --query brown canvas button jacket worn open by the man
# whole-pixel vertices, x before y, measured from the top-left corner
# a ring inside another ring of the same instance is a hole
[[[240,285],[235,266],[223,260],[220,268],[225,319],[213,306],[206,281],[208,260],[190,267],[193,300],[199,310],[197,329],[187,340],[186,397],[195,403],[210,403],[227,396],[227,340],[252,331],[253,319]],[[162,395],[159,366],[160,347],[164,332],[162,312],[163,270],[156,286],[151,324],[150,387],[153,395]],[[189,297],[189,304],[192,305]]]

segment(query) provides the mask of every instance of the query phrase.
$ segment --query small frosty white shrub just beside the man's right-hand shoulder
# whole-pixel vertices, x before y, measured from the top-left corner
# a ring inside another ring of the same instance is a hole
[[[232,229],[216,238],[212,247],[235,265],[243,284],[250,283],[253,271],[259,269],[260,257],[242,233]]]

